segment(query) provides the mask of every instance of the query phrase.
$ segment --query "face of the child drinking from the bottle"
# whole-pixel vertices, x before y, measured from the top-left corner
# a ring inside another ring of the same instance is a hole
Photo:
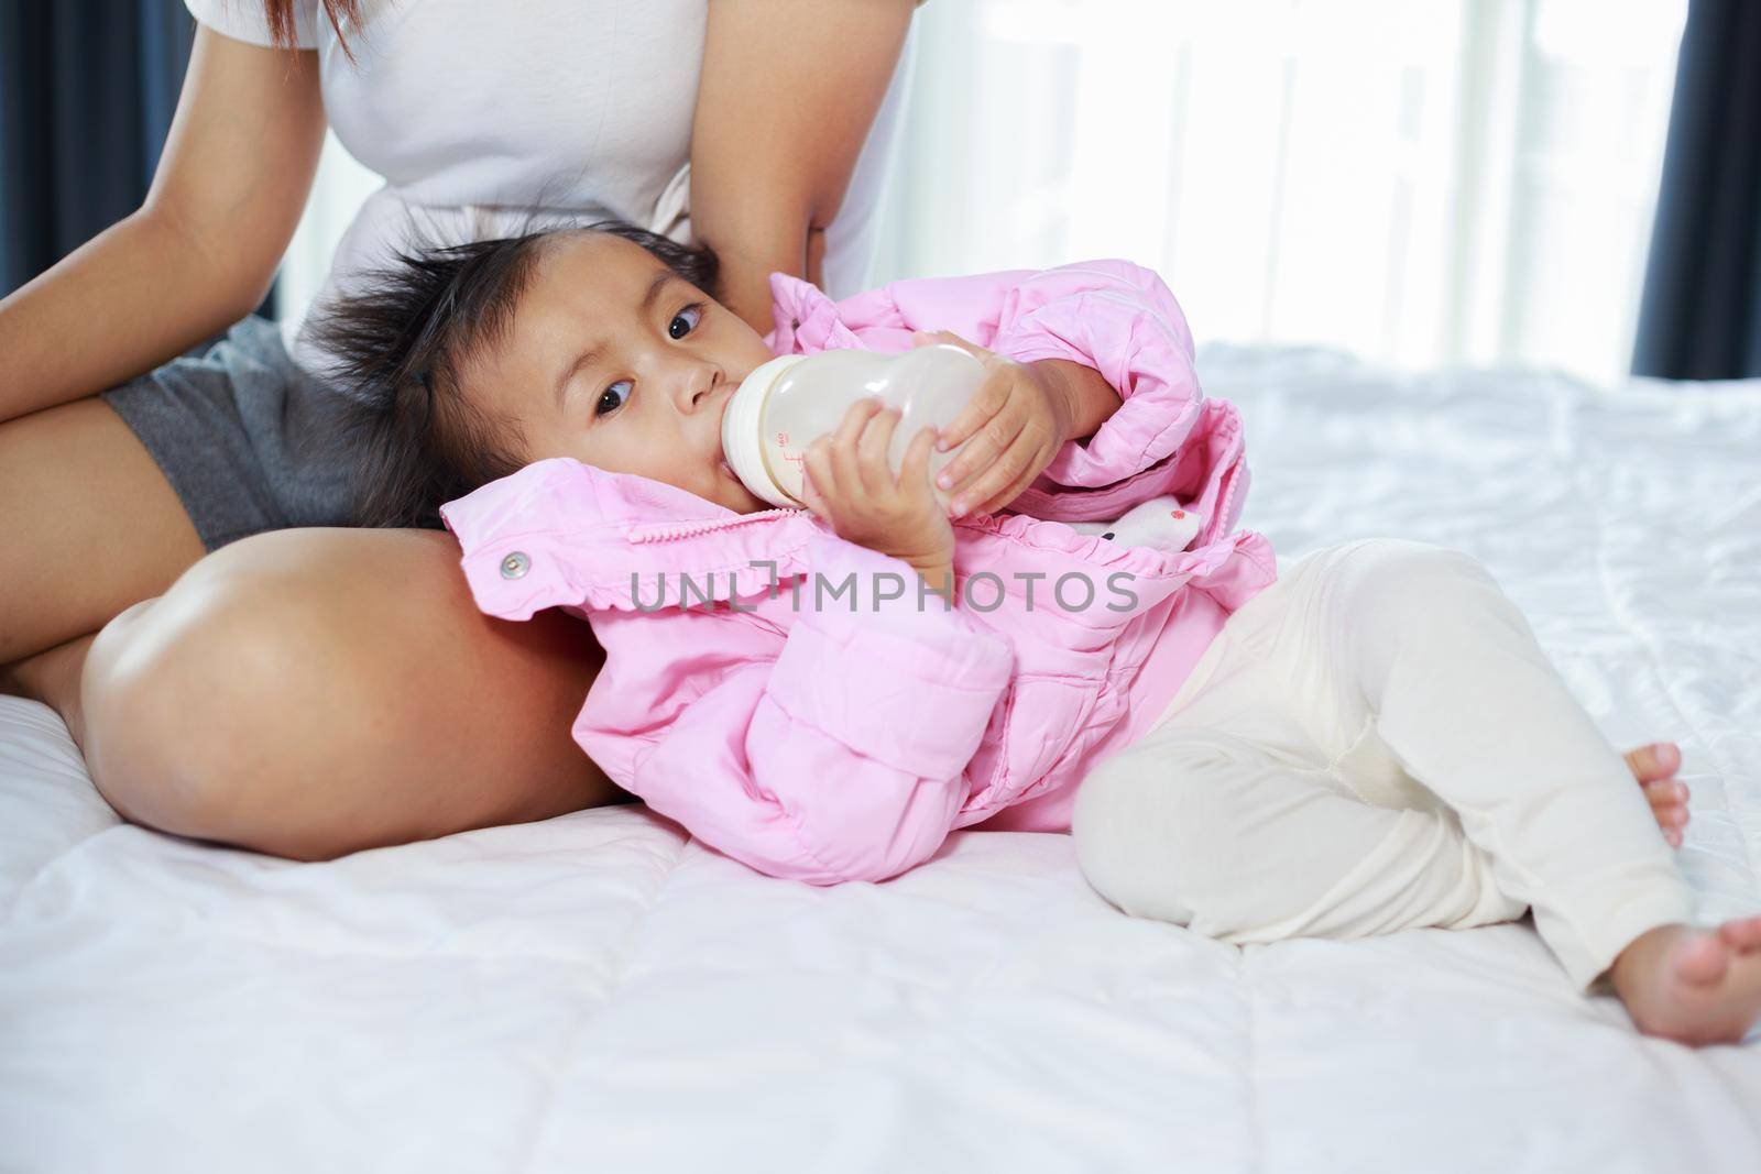
[[[599,232],[544,243],[507,336],[465,371],[521,456],[639,473],[740,514],[770,509],[722,461],[722,412],[771,352],[653,253]]]

